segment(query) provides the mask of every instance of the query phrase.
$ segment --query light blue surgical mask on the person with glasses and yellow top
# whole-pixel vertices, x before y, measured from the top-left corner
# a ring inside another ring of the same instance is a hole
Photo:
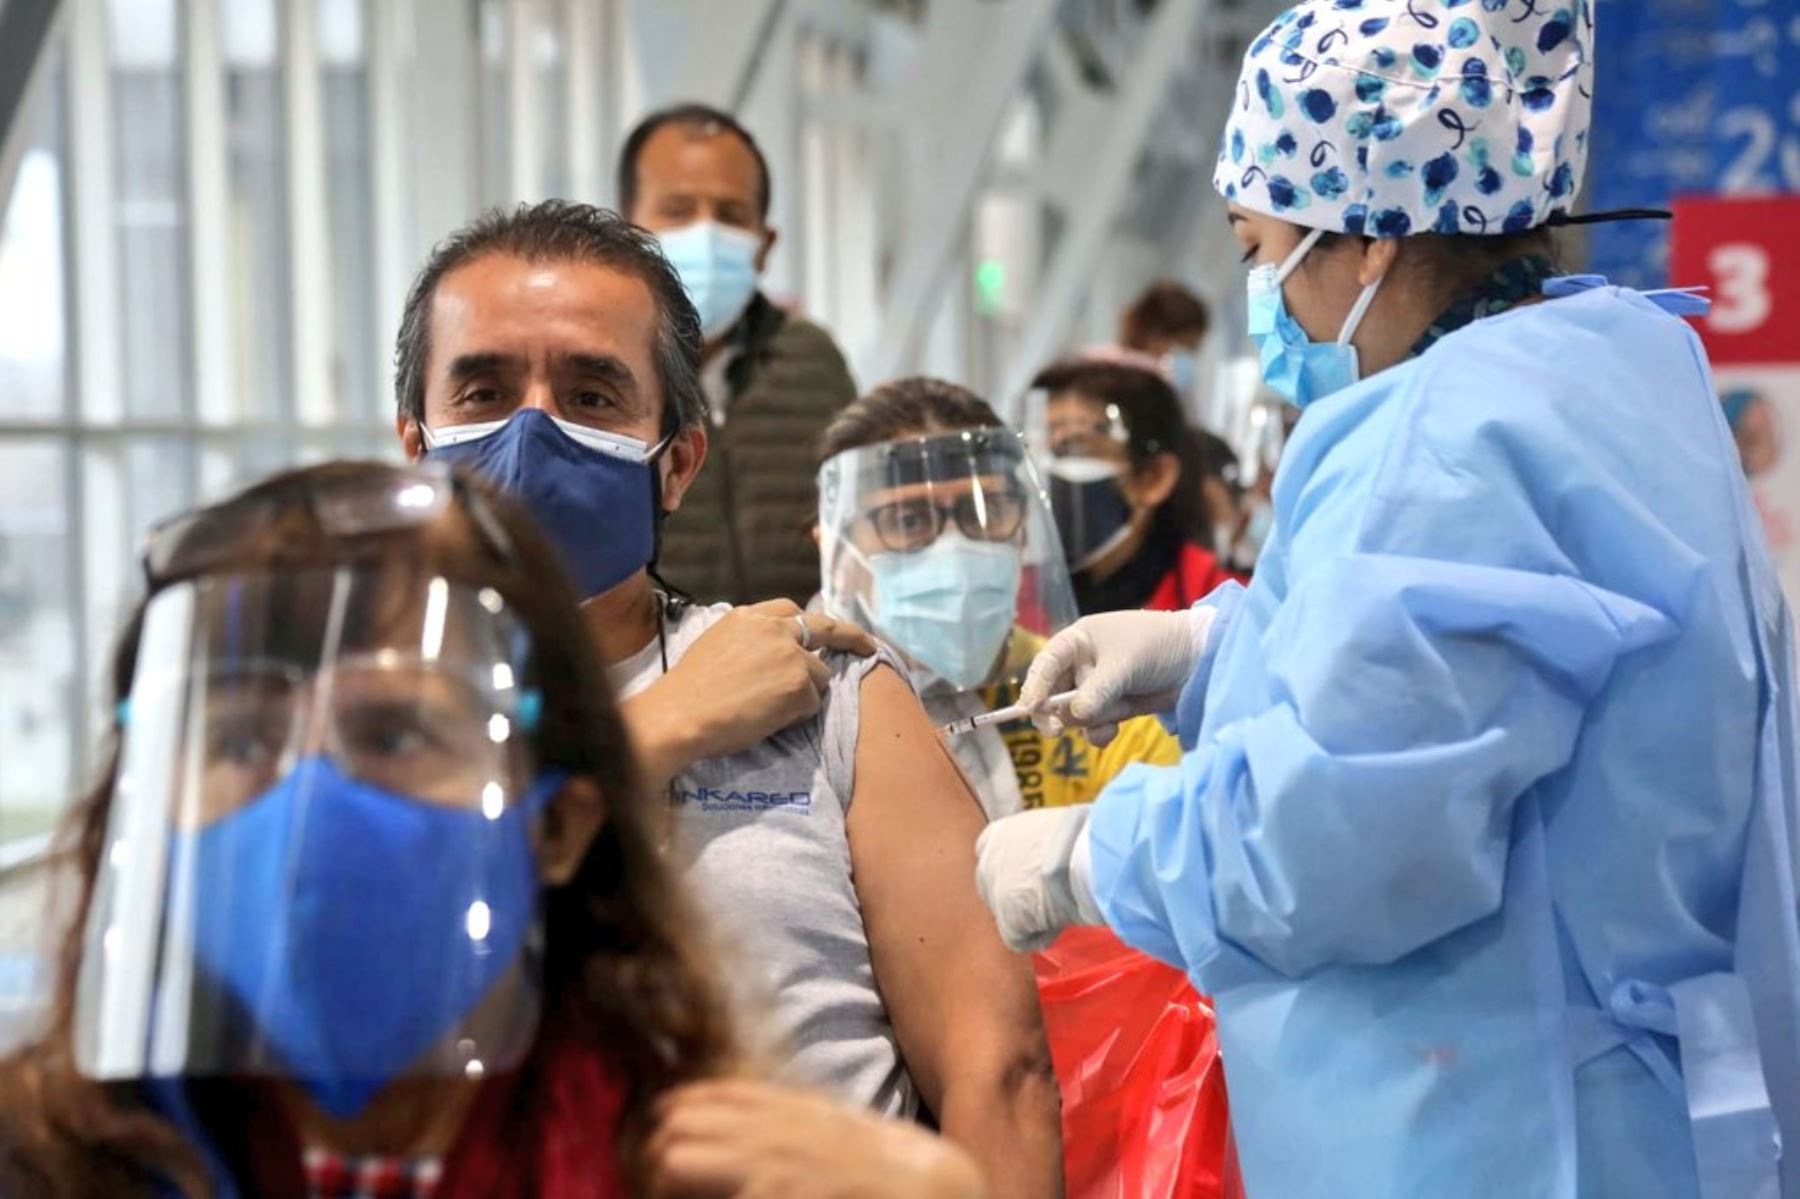
[[[902,654],[958,688],[986,682],[1019,610],[1019,547],[945,531],[925,549],[868,554],[871,619]]]

